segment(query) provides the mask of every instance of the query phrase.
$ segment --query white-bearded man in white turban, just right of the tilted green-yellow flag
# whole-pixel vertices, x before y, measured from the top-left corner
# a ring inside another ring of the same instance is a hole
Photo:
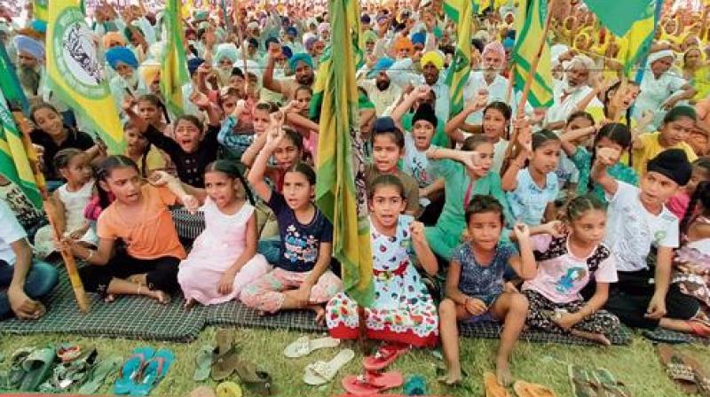
[[[585,56],[577,55],[565,67],[564,77],[555,82],[555,104],[549,108],[546,122],[548,125],[566,122],[570,114],[574,113],[580,102],[586,99],[593,90],[589,86],[592,81],[590,74],[594,73],[594,61]],[[589,101],[586,109],[591,107],[604,107],[597,97]]]

